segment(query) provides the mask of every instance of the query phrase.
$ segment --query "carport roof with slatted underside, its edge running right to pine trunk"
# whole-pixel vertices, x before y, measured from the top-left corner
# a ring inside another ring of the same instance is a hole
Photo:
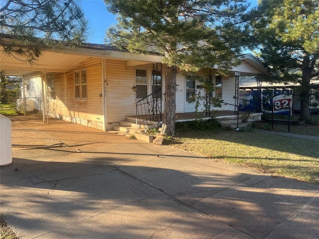
[[[4,41],[9,44],[11,38],[1,38],[1,45]],[[122,59],[127,62],[135,62],[135,64],[143,64],[146,62],[160,62],[159,55],[138,55],[125,50],[118,50],[111,45],[90,44],[84,43],[78,48],[54,49],[47,48],[36,61],[30,64],[28,61],[21,61],[18,57],[12,54],[3,52],[3,47],[0,46],[0,71],[3,71],[8,76],[23,76],[29,77],[40,75],[43,72],[67,72],[75,68],[80,63],[89,58],[113,58]]]

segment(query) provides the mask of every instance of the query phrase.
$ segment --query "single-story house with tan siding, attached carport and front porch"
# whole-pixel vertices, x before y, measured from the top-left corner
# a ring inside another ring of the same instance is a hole
[[[210,70],[216,90],[214,96],[234,104],[235,72],[241,76],[264,74],[264,64],[251,54],[239,57],[240,65],[229,70],[229,76],[216,76]],[[120,51],[113,46],[85,44],[77,49],[44,51],[35,64],[21,62],[1,54],[0,68],[6,75],[22,76],[29,84],[25,96],[41,93],[44,112],[49,116],[103,130],[126,116],[136,115],[136,100],[150,95],[158,98],[164,108],[165,65],[160,55],[139,55]],[[205,71],[197,73],[205,75]],[[194,112],[189,94],[202,91],[201,83],[192,74],[178,72],[176,78],[176,113]],[[43,88],[42,88],[43,86]],[[135,93],[132,88],[136,87]],[[215,110],[233,111],[234,106],[223,104]],[[163,111],[162,111],[163,112]]]

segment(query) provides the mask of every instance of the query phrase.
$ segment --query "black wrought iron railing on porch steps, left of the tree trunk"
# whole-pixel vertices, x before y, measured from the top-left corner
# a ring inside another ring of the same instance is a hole
[[[140,124],[161,121],[160,89],[136,102],[136,119]]]

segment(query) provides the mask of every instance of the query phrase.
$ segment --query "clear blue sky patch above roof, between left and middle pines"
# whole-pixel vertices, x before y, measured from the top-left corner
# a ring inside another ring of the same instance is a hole
[[[249,1],[253,5],[257,4],[257,0]],[[80,4],[90,22],[90,38],[88,42],[104,44],[105,31],[112,24],[116,24],[116,16],[106,10],[103,0],[81,0]]]

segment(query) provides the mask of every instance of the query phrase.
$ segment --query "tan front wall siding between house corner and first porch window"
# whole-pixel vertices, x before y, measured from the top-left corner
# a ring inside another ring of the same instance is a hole
[[[134,74],[135,67],[127,68],[125,61],[106,60],[108,123],[135,116]]]

